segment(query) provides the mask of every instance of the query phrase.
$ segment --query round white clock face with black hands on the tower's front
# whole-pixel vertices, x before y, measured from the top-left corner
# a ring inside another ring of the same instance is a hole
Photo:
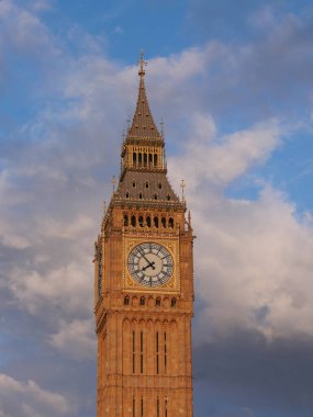
[[[130,252],[127,267],[133,279],[139,284],[159,286],[170,279],[174,261],[164,246],[141,244]]]

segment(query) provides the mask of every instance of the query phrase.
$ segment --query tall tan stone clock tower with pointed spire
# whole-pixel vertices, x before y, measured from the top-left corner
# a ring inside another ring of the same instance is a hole
[[[167,179],[144,64],[96,241],[97,417],[192,417],[193,234]]]

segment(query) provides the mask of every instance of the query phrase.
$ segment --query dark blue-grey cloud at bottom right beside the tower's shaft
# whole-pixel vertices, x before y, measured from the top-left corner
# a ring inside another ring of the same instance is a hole
[[[245,416],[243,407],[256,415],[262,409],[267,416],[311,416],[312,346],[312,338],[268,342],[258,333],[234,329],[224,339],[195,348],[194,384],[208,390],[197,416],[206,417],[203,409],[213,407],[216,399],[225,406],[232,404],[232,416]],[[214,417],[222,415],[212,413]]]

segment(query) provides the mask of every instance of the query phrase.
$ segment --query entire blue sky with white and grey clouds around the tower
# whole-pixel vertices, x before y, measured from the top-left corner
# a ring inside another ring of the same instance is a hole
[[[0,0],[0,417],[96,415],[93,243],[142,48],[197,235],[194,416],[312,417],[311,0]]]

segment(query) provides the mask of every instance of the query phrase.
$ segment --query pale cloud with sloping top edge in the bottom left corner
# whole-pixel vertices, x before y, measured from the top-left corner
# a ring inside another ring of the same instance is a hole
[[[34,381],[21,382],[0,374],[0,403],[5,417],[56,417],[72,415],[74,407],[62,394],[38,386]]]

